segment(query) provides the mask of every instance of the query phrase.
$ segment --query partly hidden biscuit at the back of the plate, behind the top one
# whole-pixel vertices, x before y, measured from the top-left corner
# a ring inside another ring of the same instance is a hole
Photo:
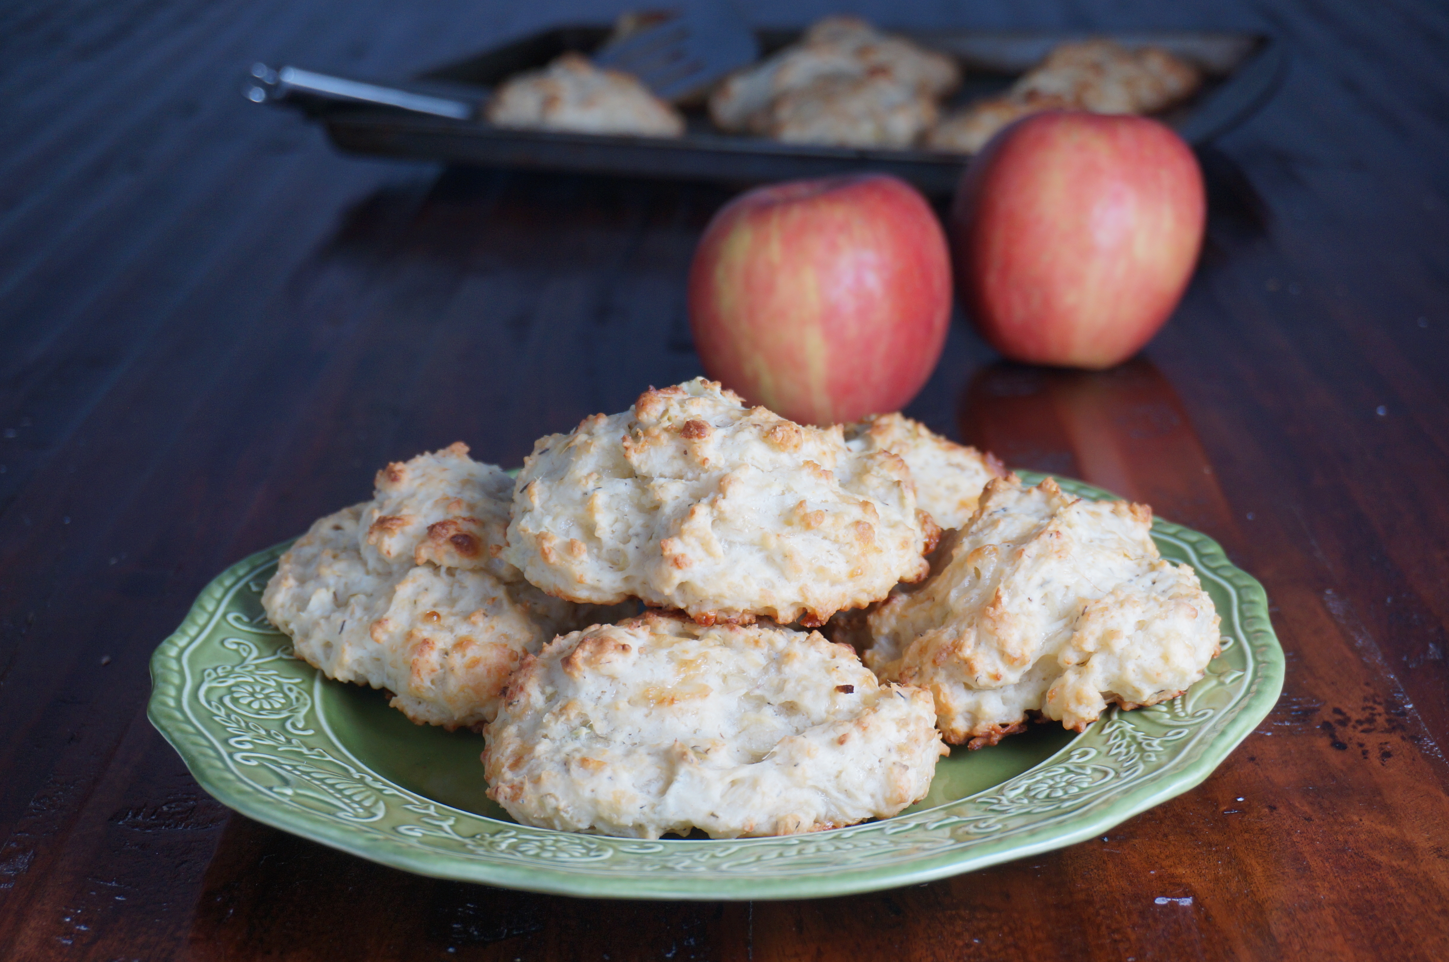
[[[871,414],[846,424],[845,443],[856,451],[898,455],[916,482],[916,506],[943,529],[969,522],[987,481],[1006,474],[994,455],[946,440],[900,413]]]

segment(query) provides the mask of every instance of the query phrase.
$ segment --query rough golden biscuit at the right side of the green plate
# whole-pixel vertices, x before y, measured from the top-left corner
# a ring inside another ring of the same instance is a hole
[[[1151,529],[1143,504],[991,481],[945,566],[868,617],[865,661],[930,688],[946,740],[972,748],[1029,713],[1081,732],[1107,703],[1172,698],[1217,655],[1219,616]]]

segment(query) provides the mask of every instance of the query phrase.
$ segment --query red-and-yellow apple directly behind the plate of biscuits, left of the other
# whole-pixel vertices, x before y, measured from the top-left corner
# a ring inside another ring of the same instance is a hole
[[[926,200],[881,174],[740,194],[690,268],[704,369],[791,420],[833,424],[906,406],[951,317],[951,255]]]

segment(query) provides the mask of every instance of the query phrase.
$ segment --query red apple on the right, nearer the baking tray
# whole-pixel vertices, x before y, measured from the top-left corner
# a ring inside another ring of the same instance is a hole
[[[1110,368],[1177,307],[1206,212],[1197,158],[1156,120],[1035,114],[997,135],[961,180],[956,284],[1006,356]]]

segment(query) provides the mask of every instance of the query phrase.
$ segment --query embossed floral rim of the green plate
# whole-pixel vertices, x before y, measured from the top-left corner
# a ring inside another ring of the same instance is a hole
[[[1043,477],[1020,474],[1029,481]],[[1058,480],[1085,497],[1114,497],[1080,481]],[[924,811],[832,832],[785,839],[640,842],[529,829],[451,808],[371,772],[327,727],[317,693],[330,682],[277,651],[264,656],[256,639],[214,642],[241,655],[242,662],[212,664],[204,669],[210,681],[193,679],[187,658],[219,623],[275,637],[270,629],[243,627],[245,619],[227,619],[227,601],[285,545],[232,565],[201,591],[181,626],[152,656],[148,716],[197,782],[227,807],[419,875],[549,894],[667,900],[816,898],[919,884],[1101,835],[1201,782],[1268,714],[1282,688],[1284,656],[1262,585],[1233,566],[1223,549],[1200,532],[1159,519],[1153,536],[1181,548],[1200,577],[1219,582],[1232,598],[1224,666],[1164,706],[1132,713],[1110,710],[1055,755],[993,788]],[[1229,651],[1235,646],[1236,652]],[[272,662],[285,671],[264,668]],[[1240,668],[1233,666],[1237,662]],[[227,695],[203,701],[213,688],[230,694],[229,685],[241,684],[242,675],[233,671],[239,666],[258,672],[255,678],[265,684],[248,691],[262,693],[271,700],[267,704],[285,707],[291,700],[293,716],[283,732],[242,714],[226,714],[230,708],[222,706]],[[262,691],[265,685],[272,690]],[[1226,704],[1195,707],[1219,690],[1227,693]],[[207,707],[213,719],[227,719],[229,737],[210,732],[194,714],[196,706]],[[310,729],[304,722],[309,711],[316,716]],[[268,739],[281,745],[277,752],[291,755],[254,750]],[[232,755],[226,746],[232,746]],[[241,774],[242,768],[261,774],[270,765],[275,766],[278,784]],[[309,785],[327,791],[327,784],[342,798],[333,803],[341,808],[352,804],[346,801],[352,791],[355,798],[374,797],[374,808],[383,806],[383,814],[368,819],[361,803],[355,803],[354,814],[323,814],[307,807]],[[383,798],[396,807],[388,808]],[[407,814],[400,816],[403,811]],[[391,827],[383,830],[375,823],[390,813]]]

